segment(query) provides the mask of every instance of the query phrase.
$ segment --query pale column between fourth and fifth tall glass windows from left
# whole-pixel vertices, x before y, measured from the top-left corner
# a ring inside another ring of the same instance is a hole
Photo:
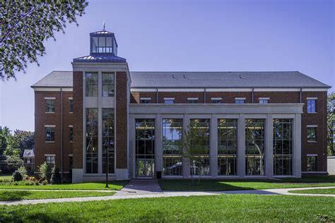
[[[237,175],[243,177],[245,176],[245,114],[239,115],[237,136]]]

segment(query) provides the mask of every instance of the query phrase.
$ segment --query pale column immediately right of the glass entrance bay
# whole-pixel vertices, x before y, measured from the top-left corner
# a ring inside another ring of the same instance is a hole
[[[163,171],[163,136],[161,114],[156,114],[155,120],[155,171]]]

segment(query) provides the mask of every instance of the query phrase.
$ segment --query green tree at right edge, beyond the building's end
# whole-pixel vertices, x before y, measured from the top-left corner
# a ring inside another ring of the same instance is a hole
[[[327,99],[327,139],[328,155],[335,155],[334,147],[334,128],[335,128],[335,92],[331,92]]]

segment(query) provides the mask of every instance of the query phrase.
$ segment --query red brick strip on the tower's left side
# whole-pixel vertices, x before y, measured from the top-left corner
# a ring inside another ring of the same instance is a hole
[[[74,71],[74,169],[83,168],[83,72]]]

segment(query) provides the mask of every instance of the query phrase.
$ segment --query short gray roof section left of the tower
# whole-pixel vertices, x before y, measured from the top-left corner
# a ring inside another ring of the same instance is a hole
[[[72,71],[52,71],[47,76],[37,81],[32,88],[72,88]]]

